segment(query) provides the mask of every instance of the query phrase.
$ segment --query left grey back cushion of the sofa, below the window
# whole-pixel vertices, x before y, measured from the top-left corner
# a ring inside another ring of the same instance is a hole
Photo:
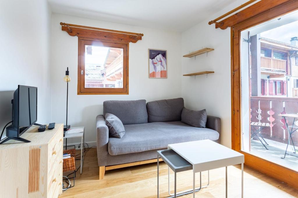
[[[103,115],[116,115],[123,124],[142,124],[148,122],[146,100],[109,100],[103,102]]]

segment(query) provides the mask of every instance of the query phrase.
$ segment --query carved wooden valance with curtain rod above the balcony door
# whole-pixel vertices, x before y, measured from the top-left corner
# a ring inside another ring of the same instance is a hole
[[[250,1],[246,2],[245,4],[231,10],[230,12],[227,12],[226,14],[216,18],[215,20],[209,21],[208,24],[211,25],[211,24],[215,23],[215,28],[221,28],[224,30],[228,27],[232,27],[232,26],[234,26],[238,23],[241,23],[245,20],[256,18],[256,17],[260,16],[261,14],[264,14],[271,10],[277,9],[281,6],[285,6],[284,10],[287,10],[286,13],[292,12],[295,10],[295,6],[293,6],[293,4],[298,4],[297,0],[261,0],[247,8],[241,10],[240,12],[237,12],[236,14],[229,16],[228,18],[226,18],[224,20],[221,20],[222,18],[234,13],[235,11],[237,11],[249,4],[252,4],[254,1],[256,1],[256,0],[250,0]],[[280,9],[278,9],[277,12],[284,12],[284,10],[281,11]],[[218,20],[221,20],[221,21],[217,22]]]

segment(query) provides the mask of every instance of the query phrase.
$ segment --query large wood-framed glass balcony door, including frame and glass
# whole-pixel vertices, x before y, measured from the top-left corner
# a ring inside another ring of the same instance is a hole
[[[298,11],[277,13],[232,28],[232,147],[298,187]]]

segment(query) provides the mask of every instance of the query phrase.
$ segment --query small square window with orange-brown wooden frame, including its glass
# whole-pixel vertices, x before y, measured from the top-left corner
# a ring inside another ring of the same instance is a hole
[[[78,94],[128,94],[128,43],[79,38]]]

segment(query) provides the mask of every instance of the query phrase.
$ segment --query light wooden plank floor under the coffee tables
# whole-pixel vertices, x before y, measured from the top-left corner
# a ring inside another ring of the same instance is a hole
[[[157,197],[156,163],[106,171],[105,179],[98,180],[96,148],[91,148],[85,156],[83,173],[77,172],[75,186],[63,192],[62,197],[117,197],[155,198]],[[79,164],[79,160],[76,161]],[[240,168],[240,169],[239,169]],[[177,174],[177,190],[192,188],[192,171]],[[207,172],[202,173],[202,183],[207,183]],[[173,172],[170,175],[173,181]],[[199,173],[196,174],[198,186]],[[160,197],[167,197],[167,165],[160,163]],[[241,167],[228,167],[228,197],[240,197]],[[173,189],[173,182],[171,183]],[[181,198],[191,198],[184,195]],[[210,171],[210,185],[196,193],[196,197],[225,197],[225,168]],[[298,190],[286,183],[263,175],[244,166],[244,197],[287,198],[298,197]]]

